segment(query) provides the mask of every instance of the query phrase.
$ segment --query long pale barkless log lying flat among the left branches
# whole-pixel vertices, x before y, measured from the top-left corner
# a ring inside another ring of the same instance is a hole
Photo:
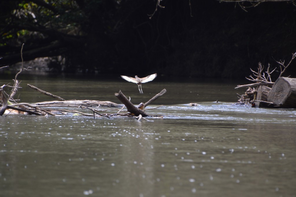
[[[115,102],[98,100],[65,100],[65,101],[45,101],[37,102],[31,105],[82,105],[82,106],[101,106],[101,107],[122,107]]]

